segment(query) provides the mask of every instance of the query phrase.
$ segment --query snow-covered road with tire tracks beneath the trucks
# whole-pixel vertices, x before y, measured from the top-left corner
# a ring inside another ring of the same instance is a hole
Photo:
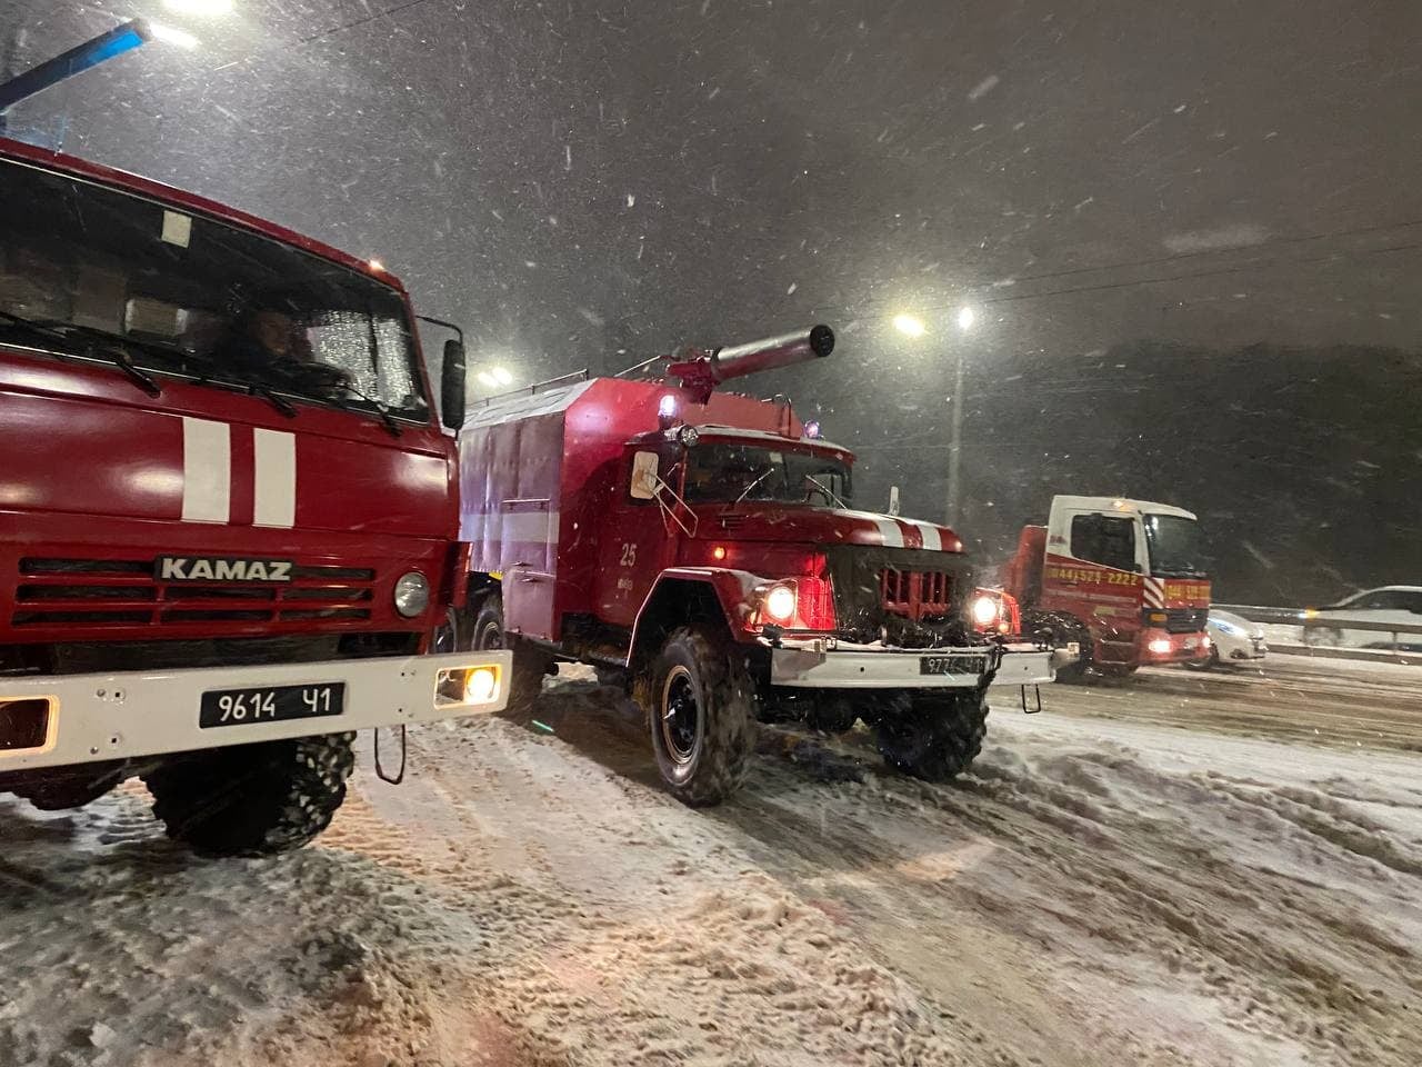
[[[775,734],[700,812],[574,674],[277,859],[0,798],[0,1064],[1411,1066],[1422,674],[1313,666],[1055,687],[951,787]]]

